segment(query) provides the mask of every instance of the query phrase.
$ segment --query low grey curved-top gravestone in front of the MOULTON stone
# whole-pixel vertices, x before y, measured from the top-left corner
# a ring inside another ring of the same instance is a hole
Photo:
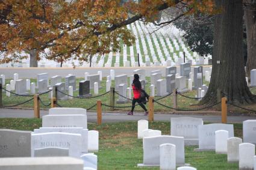
[[[34,150],[34,157],[48,157],[48,156],[69,156],[69,149],[66,148],[41,148]]]

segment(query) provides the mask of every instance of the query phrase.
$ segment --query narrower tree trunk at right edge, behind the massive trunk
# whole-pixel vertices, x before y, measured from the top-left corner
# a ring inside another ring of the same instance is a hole
[[[256,68],[256,7],[245,5],[245,26],[247,37],[246,75],[251,76],[251,70]]]

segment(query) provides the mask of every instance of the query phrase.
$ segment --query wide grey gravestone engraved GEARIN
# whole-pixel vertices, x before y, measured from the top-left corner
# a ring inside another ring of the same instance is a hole
[[[202,118],[171,118],[170,135],[184,137],[185,145],[198,145],[198,126],[203,124]]]

